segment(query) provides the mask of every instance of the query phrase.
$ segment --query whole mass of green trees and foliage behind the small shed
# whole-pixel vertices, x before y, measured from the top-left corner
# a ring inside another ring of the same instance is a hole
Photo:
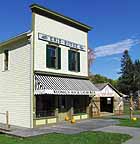
[[[135,93],[140,90],[140,60],[133,62],[128,51],[124,51],[121,59],[121,70],[118,80],[112,80],[100,74],[90,75],[89,79],[92,83],[107,83],[109,82],[121,93],[129,95],[132,91]]]

